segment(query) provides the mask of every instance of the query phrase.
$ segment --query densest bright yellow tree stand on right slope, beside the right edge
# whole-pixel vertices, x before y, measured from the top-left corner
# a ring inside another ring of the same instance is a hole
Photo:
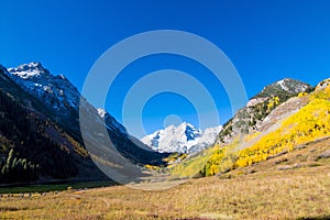
[[[330,135],[330,89],[311,101],[297,113],[286,119],[279,129],[263,136],[251,147],[241,150],[235,167],[265,161],[283,151],[293,151],[295,145]],[[322,98],[320,98],[322,97]]]

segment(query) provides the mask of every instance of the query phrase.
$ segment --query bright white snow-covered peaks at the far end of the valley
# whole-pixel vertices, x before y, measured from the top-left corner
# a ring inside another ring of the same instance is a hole
[[[142,138],[144,144],[158,152],[194,153],[211,145],[222,127],[208,128],[205,131],[183,122],[178,127],[169,125]]]

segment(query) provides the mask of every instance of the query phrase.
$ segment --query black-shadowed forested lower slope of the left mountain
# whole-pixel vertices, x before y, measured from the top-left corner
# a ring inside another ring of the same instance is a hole
[[[40,174],[58,178],[77,173],[68,144],[59,144],[46,132],[65,135],[50,120],[24,109],[19,100],[2,90],[0,112],[0,183],[33,182]],[[76,152],[80,147],[77,145]]]

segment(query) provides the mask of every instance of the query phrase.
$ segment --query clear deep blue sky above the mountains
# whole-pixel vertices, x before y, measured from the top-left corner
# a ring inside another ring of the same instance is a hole
[[[328,0],[2,0],[0,8],[0,64],[12,67],[37,61],[53,74],[65,74],[78,89],[111,45],[163,29],[191,32],[219,46],[238,69],[249,97],[285,77],[316,85],[330,74]],[[123,98],[134,81],[164,68],[197,77],[213,96],[221,123],[230,118],[227,95],[208,69],[170,55],[128,66],[110,89],[107,110],[122,121]],[[196,110],[184,97],[161,94],[144,108],[146,132],[162,128],[168,114],[198,125]],[[217,124],[210,120],[209,125]]]

